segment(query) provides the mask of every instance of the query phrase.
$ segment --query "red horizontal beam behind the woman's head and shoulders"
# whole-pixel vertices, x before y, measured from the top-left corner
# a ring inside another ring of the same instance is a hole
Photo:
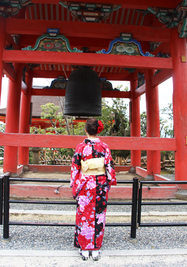
[[[0,133],[0,145],[43,148],[76,148],[85,136]],[[100,136],[110,149],[177,150],[176,138]]]

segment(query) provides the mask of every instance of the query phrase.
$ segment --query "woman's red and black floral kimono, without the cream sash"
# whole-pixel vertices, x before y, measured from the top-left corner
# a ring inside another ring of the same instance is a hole
[[[83,175],[81,160],[104,157],[106,173]],[[116,185],[116,174],[108,145],[99,138],[85,139],[75,149],[71,166],[73,198],[77,197],[74,246],[81,250],[98,250],[102,246],[108,192]]]

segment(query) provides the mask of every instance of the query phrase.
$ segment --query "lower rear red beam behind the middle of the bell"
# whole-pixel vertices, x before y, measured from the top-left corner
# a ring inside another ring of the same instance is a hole
[[[123,91],[101,91],[102,97],[130,98],[131,92]],[[65,97],[64,89],[37,89],[32,88],[32,95],[35,96],[58,96]]]

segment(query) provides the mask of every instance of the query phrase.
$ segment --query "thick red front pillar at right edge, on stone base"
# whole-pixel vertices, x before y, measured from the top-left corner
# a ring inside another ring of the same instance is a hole
[[[170,53],[173,58],[173,124],[177,138],[175,151],[175,180],[187,180],[187,42],[171,30]],[[182,57],[184,56],[184,57]],[[177,198],[187,200],[187,185],[178,185]]]

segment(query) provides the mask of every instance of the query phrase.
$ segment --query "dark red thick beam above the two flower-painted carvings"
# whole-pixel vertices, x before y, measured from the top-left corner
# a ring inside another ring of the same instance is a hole
[[[150,6],[150,5],[149,5]],[[114,12],[115,14],[115,12]],[[129,23],[130,24],[130,23]],[[121,32],[132,33],[134,39],[142,41],[169,42],[171,33],[169,28],[153,28],[137,25],[119,25],[102,23],[87,23],[79,21],[47,21],[48,28],[58,28],[65,37],[86,37],[113,40],[120,36]],[[15,34],[46,34],[45,20],[18,20],[14,18],[6,19],[7,33]]]

